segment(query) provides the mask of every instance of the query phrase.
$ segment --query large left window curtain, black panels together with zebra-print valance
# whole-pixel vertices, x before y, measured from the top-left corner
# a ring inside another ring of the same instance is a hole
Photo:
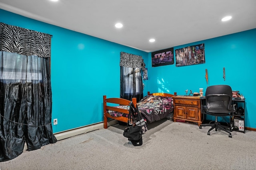
[[[56,143],[52,132],[50,37],[0,23],[0,161]]]

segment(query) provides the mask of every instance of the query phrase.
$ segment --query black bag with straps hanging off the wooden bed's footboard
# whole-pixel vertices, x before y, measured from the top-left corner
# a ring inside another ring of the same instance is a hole
[[[124,129],[124,137],[127,137],[129,141],[132,142],[134,146],[142,145],[142,124],[141,121],[137,123],[136,120],[141,120],[140,113],[138,111],[138,106],[130,103],[130,111],[128,115],[127,127]]]

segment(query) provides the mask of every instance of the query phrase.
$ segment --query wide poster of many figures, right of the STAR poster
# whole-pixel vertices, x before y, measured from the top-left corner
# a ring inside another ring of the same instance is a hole
[[[204,43],[175,50],[176,67],[205,63]]]

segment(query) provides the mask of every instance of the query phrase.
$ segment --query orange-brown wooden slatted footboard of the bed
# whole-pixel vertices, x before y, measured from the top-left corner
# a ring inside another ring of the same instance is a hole
[[[118,120],[118,121],[125,122],[125,123],[128,122],[127,117],[122,117],[122,116],[113,117],[107,112],[107,110],[118,111],[120,113],[129,114],[129,110],[121,109],[121,108],[117,108],[117,107],[113,107],[113,106],[108,106],[107,103],[129,106],[130,102],[131,102],[130,100],[126,100],[126,99],[122,99],[122,98],[108,98],[107,99],[106,96],[103,96],[104,128],[105,129],[108,128],[108,117],[111,118],[111,119],[115,119],[115,120]],[[137,105],[136,98],[132,98],[132,102],[133,102],[134,106],[136,107],[136,105]]]

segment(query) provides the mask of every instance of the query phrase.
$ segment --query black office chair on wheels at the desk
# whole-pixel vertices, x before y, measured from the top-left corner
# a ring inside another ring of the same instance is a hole
[[[235,111],[232,107],[232,89],[228,85],[215,85],[209,86],[206,88],[205,92],[205,106],[203,106],[203,113],[208,115],[215,116],[214,124],[202,124],[200,125],[200,129],[202,126],[211,126],[212,128],[209,129],[207,135],[210,135],[210,131],[215,128],[222,129],[229,133],[228,137],[232,137],[231,132],[229,131],[231,127],[220,125],[217,121],[218,116],[228,116],[232,115]]]

